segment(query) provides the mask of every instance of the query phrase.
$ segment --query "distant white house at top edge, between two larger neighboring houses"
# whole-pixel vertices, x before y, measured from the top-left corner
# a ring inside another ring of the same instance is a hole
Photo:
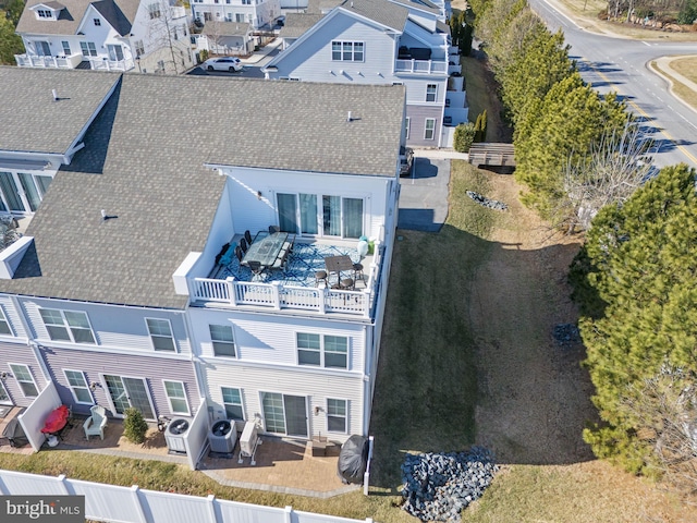
[[[194,20],[209,22],[236,22],[249,24],[255,31],[270,31],[281,15],[279,0],[194,0]]]

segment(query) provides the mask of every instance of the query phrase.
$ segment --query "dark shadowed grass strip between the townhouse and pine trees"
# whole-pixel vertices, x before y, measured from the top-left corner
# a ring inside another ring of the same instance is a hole
[[[438,234],[400,232],[370,484],[395,494],[405,452],[472,445],[488,447],[499,463],[592,459],[582,439],[596,419],[584,349],[552,338],[554,325],[577,320],[565,287],[577,246],[523,251],[450,224]]]

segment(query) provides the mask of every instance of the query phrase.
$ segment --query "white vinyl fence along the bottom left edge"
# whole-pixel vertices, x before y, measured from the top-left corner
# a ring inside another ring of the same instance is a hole
[[[109,523],[372,523],[259,504],[119,487],[100,483],[0,470],[3,496],[85,496],[85,518]]]

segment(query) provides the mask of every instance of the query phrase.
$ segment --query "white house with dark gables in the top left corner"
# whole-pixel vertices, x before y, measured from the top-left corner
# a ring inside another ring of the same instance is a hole
[[[23,68],[181,73],[193,65],[184,8],[168,0],[28,0]]]

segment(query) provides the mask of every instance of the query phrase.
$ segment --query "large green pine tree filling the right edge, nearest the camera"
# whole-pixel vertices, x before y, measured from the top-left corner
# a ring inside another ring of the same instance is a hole
[[[667,379],[678,373],[680,390],[692,390],[689,401],[697,402],[695,259],[695,170],[682,165],[663,169],[624,205],[603,208],[574,260],[572,284],[583,291],[575,296],[585,312],[585,364],[603,421],[584,437],[596,455],[632,472],[670,472],[678,462],[661,459],[665,441],[674,440],[668,431],[685,426],[671,418],[680,410],[665,410]],[[658,391],[656,401],[647,401],[647,390]]]

